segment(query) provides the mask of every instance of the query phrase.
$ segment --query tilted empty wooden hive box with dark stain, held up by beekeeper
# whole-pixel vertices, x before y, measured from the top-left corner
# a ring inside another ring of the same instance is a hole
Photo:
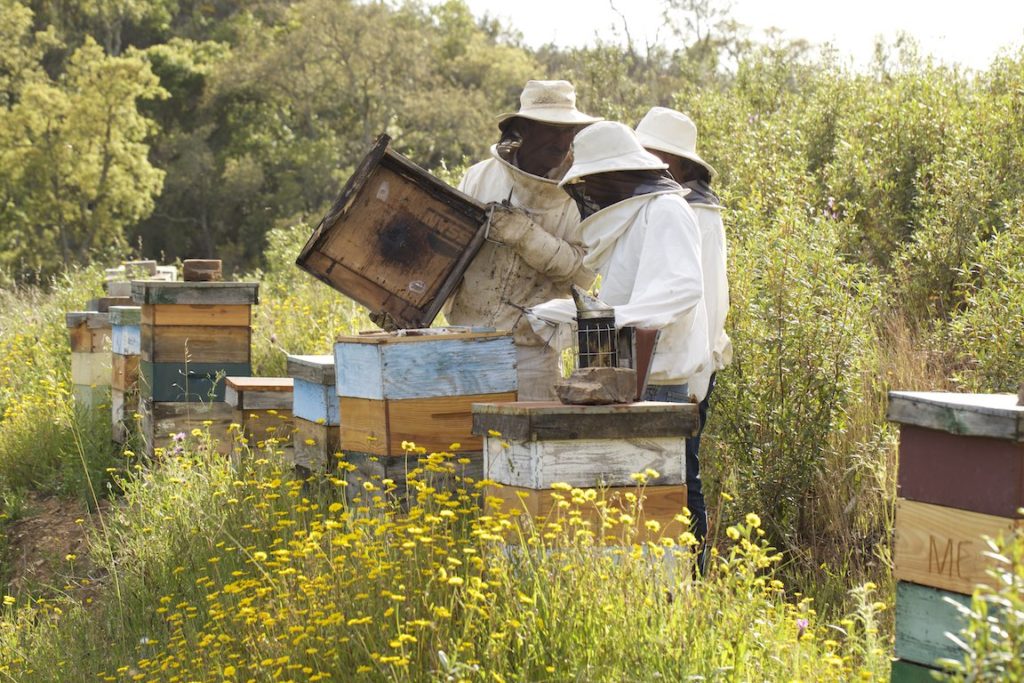
[[[296,259],[372,311],[429,327],[483,244],[483,205],[381,135]]]

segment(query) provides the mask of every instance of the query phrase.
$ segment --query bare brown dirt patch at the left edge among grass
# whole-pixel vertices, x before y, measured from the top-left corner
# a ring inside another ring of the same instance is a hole
[[[109,507],[105,501],[100,503],[101,511]],[[6,593],[90,592],[95,567],[86,538],[96,522],[96,513],[81,501],[30,495],[25,517],[6,529]]]

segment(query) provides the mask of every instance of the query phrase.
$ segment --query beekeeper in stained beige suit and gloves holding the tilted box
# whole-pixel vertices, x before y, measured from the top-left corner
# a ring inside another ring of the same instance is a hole
[[[519,398],[555,399],[558,353],[535,334],[524,310],[589,287],[577,205],[558,186],[572,138],[599,118],[575,106],[567,81],[529,81],[519,111],[499,117],[490,159],[472,166],[459,189],[492,206],[487,240],[444,309],[454,325],[511,330]]]

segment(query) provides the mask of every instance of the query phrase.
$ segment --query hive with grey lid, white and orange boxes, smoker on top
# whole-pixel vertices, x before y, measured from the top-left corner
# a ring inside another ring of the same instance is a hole
[[[504,501],[505,511],[548,518],[564,497],[555,484],[600,488],[609,505],[635,516],[641,538],[686,530],[675,517],[686,507],[686,437],[696,427],[693,403],[536,401],[473,408],[473,430],[483,437],[483,474],[501,484],[489,487],[487,496]],[[638,507],[629,496],[637,494],[636,473],[648,473]],[[597,500],[580,512],[597,531]],[[649,521],[657,525],[648,527]],[[609,529],[616,537],[620,531]]]

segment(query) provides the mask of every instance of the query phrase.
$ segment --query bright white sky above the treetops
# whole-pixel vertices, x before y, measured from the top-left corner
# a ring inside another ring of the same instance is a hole
[[[506,19],[523,34],[526,43],[540,46],[581,46],[595,36],[615,40],[622,18],[608,0],[467,0],[477,15]],[[614,0],[626,15],[634,41],[643,44],[658,31],[664,40],[663,0]],[[925,54],[943,62],[984,69],[1004,47],[1024,44],[1024,1],[1021,0],[733,0],[732,15],[763,38],[770,27],[787,38],[815,44],[833,43],[854,63],[866,63],[874,39],[891,43],[897,33],[914,36]]]

